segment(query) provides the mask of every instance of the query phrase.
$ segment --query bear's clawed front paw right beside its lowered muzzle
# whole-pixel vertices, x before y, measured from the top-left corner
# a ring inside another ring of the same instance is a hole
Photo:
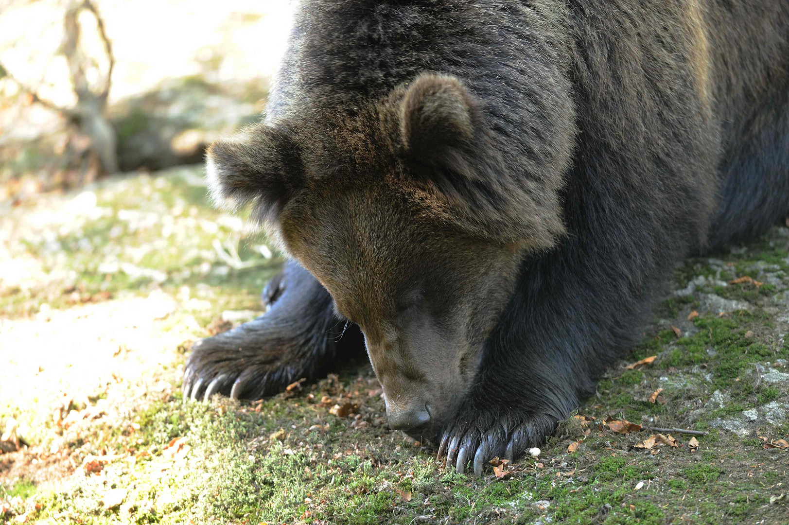
[[[463,474],[473,461],[474,474],[482,475],[485,464],[495,457],[510,461],[543,444],[555,429],[557,418],[548,414],[517,414],[503,411],[462,411],[441,433],[439,459],[446,456]]]

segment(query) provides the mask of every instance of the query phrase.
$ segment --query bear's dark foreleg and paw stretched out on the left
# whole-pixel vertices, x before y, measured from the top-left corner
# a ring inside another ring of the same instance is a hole
[[[313,381],[337,358],[364,349],[356,325],[338,322],[331,296],[297,263],[288,262],[263,296],[267,313],[195,344],[185,367],[185,398],[270,396],[301,378]]]

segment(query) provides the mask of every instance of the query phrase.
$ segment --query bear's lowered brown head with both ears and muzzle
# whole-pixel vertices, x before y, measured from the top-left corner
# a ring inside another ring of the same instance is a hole
[[[390,426],[415,437],[458,411],[525,253],[564,232],[559,183],[522,176],[497,142],[462,81],[423,73],[208,149],[215,200],[252,204],[361,327]]]

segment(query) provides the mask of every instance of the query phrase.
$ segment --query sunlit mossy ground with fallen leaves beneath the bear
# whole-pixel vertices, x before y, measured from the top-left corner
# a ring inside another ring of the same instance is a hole
[[[29,445],[0,455],[0,523],[789,523],[770,503],[789,450],[761,439],[789,437],[787,228],[682,264],[579,409],[704,430],[698,448],[571,419],[539,459],[473,478],[387,429],[365,362],[256,403],[181,399],[179,343],[259,311],[281,264],[211,209],[199,169],[0,213],[0,419]]]

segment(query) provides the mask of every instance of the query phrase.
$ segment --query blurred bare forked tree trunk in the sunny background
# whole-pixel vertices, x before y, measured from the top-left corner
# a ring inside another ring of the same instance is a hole
[[[86,10],[95,17],[102,40],[104,52],[107,54],[109,67],[107,74],[99,88],[92,89],[88,83],[85,69],[90,65],[90,58],[84,54],[80,47],[81,27],[79,21],[80,11]],[[58,111],[69,119],[80,129],[82,133],[90,137],[92,152],[98,156],[102,171],[114,173],[118,171],[118,138],[114,127],[107,118],[107,99],[112,85],[112,72],[115,66],[115,58],[112,53],[112,43],[107,36],[104,21],[99,10],[91,0],[70,0],[65,10],[63,19],[64,38],[58,52],[62,54],[69,66],[69,76],[73,91],[77,96],[77,104],[74,107],[60,107],[57,104],[42,99],[38,95],[37,88],[31,88],[13,76],[13,73],[2,64],[0,72],[16,83],[23,92],[28,93],[32,102],[39,103],[53,111]],[[2,77],[2,74],[0,74]]]

